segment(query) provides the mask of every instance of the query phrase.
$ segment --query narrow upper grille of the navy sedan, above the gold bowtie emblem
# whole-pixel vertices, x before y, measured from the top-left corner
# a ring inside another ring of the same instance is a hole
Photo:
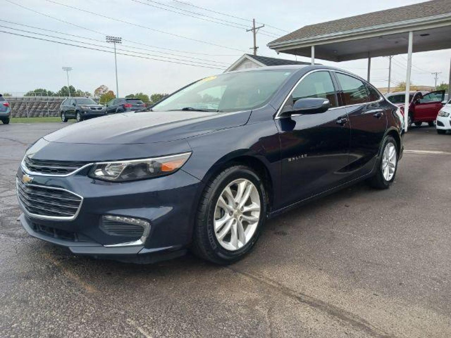
[[[25,156],[22,163],[28,172],[55,176],[70,175],[88,164],[80,161],[35,160],[28,156]]]

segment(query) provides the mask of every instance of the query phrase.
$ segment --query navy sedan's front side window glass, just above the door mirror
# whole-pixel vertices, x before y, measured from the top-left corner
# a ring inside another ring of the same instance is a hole
[[[337,106],[335,88],[329,72],[314,72],[299,82],[292,94],[293,103],[308,97],[327,99],[331,107]]]

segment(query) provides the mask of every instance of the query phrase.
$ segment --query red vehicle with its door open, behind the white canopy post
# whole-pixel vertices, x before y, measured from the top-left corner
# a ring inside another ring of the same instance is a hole
[[[391,103],[399,106],[404,115],[405,92],[389,93],[386,97]],[[427,122],[429,126],[433,127],[438,111],[443,106],[445,91],[411,91],[409,99],[408,125],[415,123],[416,126],[421,126],[421,123]]]

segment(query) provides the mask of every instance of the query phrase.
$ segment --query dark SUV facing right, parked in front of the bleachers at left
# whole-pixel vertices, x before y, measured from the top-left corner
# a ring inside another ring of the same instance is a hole
[[[99,105],[89,97],[69,97],[60,105],[60,117],[63,122],[67,122],[68,119],[76,119],[77,122],[81,122],[105,115],[106,107]]]

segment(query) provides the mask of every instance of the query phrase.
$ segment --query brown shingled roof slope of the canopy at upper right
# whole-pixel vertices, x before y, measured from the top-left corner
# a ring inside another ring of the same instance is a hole
[[[385,9],[378,12],[304,26],[270,42],[268,46],[271,47],[273,44],[281,42],[283,43],[287,41],[296,41],[299,39],[321,37],[328,34],[344,33],[357,29],[434,17],[449,13],[451,13],[451,0],[432,0],[419,4]]]

